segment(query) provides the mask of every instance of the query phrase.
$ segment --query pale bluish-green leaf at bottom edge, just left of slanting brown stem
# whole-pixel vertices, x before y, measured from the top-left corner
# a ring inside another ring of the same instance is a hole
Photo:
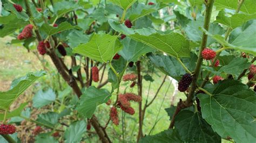
[[[86,123],[84,120],[72,123],[64,133],[65,142],[80,142],[83,134],[86,132]]]

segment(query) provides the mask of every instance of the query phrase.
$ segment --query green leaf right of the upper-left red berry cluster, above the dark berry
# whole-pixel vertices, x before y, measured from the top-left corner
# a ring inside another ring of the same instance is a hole
[[[70,29],[80,30],[81,28],[79,26],[72,26],[68,22],[60,23],[60,25],[58,25],[58,27],[53,27],[49,24],[43,24],[41,27],[41,30],[48,35],[53,35],[53,34],[56,34],[56,33],[59,33],[59,32],[65,31],[65,30],[70,30]]]

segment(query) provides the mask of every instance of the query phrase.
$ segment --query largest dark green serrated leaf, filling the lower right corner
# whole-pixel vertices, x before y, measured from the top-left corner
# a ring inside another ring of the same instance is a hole
[[[219,82],[213,96],[197,95],[203,118],[222,138],[254,142],[256,138],[256,95],[239,81]]]

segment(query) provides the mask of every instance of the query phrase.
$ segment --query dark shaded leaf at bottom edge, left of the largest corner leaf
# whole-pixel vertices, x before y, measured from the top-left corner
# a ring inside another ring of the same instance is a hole
[[[220,136],[212,130],[199,112],[180,111],[175,118],[174,127],[185,142],[221,142]]]

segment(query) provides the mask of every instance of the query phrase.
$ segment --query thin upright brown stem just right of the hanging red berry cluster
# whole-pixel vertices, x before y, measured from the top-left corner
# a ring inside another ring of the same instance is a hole
[[[137,61],[137,72],[138,72],[138,96],[142,97],[142,75],[140,74],[140,61]],[[143,137],[143,120],[142,120],[142,102],[139,102],[139,132],[137,142]]]

